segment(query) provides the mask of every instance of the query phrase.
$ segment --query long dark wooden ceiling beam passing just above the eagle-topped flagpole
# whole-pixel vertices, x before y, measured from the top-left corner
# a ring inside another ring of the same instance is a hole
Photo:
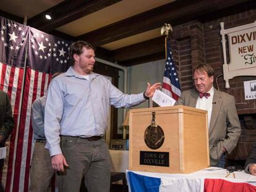
[[[171,23],[171,25],[179,25],[199,15],[234,6],[245,1],[249,0],[177,0],[112,23],[106,27],[90,31],[77,38],[86,40],[94,46],[101,46],[128,36],[153,30],[167,22]]]

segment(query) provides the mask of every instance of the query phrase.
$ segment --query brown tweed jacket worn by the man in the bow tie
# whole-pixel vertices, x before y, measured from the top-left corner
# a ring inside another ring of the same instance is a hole
[[[183,91],[176,105],[195,107],[198,92]],[[236,112],[234,97],[214,89],[213,107],[209,128],[210,164],[215,166],[223,154],[223,147],[230,153],[236,147],[241,134],[241,125]]]

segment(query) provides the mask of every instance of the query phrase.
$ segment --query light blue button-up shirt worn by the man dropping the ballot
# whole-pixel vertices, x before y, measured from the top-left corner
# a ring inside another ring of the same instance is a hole
[[[45,104],[46,148],[50,155],[62,154],[60,136],[103,136],[109,105],[132,107],[145,101],[143,93],[124,94],[105,77],[91,73],[89,80],[70,67],[54,78]]]

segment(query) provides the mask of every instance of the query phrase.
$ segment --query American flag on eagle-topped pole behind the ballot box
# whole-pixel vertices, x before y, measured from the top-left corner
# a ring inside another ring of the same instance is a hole
[[[179,85],[179,77],[177,75],[168,39],[166,39],[166,64],[164,69],[162,91],[176,101],[179,96],[181,96],[181,85]]]

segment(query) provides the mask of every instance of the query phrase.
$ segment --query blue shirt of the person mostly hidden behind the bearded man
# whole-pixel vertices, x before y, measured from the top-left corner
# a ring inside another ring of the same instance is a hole
[[[46,96],[36,99],[32,104],[32,127],[36,140],[45,140],[45,99]]]

